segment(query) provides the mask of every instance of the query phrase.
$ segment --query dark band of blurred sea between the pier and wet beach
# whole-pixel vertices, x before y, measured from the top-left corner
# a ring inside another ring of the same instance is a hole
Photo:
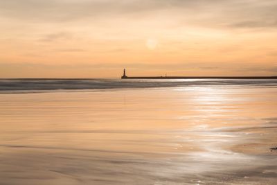
[[[186,87],[186,86],[225,86],[243,85],[254,87],[276,87],[277,80],[220,80],[220,79],[184,79],[184,80],[118,80],[118,79],[2,79],[0,92],[82,90],[82,89],[120,89],[150,87]]]

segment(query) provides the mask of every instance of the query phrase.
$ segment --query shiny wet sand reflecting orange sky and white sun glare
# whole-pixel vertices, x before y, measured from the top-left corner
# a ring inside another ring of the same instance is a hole
[[[277,184],[277,88],[0,94],[0,184]]]

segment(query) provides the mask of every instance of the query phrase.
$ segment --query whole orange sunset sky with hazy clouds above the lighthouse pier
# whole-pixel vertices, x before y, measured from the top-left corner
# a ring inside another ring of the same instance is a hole
[[[277,76],[276,0],[1,0],[0,78]]]

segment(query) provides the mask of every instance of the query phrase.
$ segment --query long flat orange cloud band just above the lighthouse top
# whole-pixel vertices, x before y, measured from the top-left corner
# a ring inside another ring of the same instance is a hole
[[[12,68],[60,68],[60,69],[159,69],[167,71],[170,70],[195,70],[202,69],[206,71],[215,71],[215,70],[230,70],[230,71],[247,71],[247,72],[277,72],[276,66],[267,66],[264,67],[262,64],[257,64],[253,67],[253,64],[247,64],[246,62],[235,62],[233,64],[224,64],[222,62],[182,62],[182,63],[164,63],[164,64],[152,64],[152,63],[143,63],[143,62],[79,62],[78,64],[47,64],[47,63],[35,63],[35,62],[24,62],[24,63],[1,63],[1,67],[12,67]]]

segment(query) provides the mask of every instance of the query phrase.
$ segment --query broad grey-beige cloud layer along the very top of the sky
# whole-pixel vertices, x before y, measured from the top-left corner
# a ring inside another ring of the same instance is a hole
[[[1,17],[58,23],[129,17],[141,19],[165,11],[181,25],[208,27],[277,27],[275,0],[2,0]],[[135,15],[141,15],[136,17]],[[163,14],[161,14],[163,15]],[[159,18],[159,16],[158,16]],[[163,17],[160,17],[161,20]]]

